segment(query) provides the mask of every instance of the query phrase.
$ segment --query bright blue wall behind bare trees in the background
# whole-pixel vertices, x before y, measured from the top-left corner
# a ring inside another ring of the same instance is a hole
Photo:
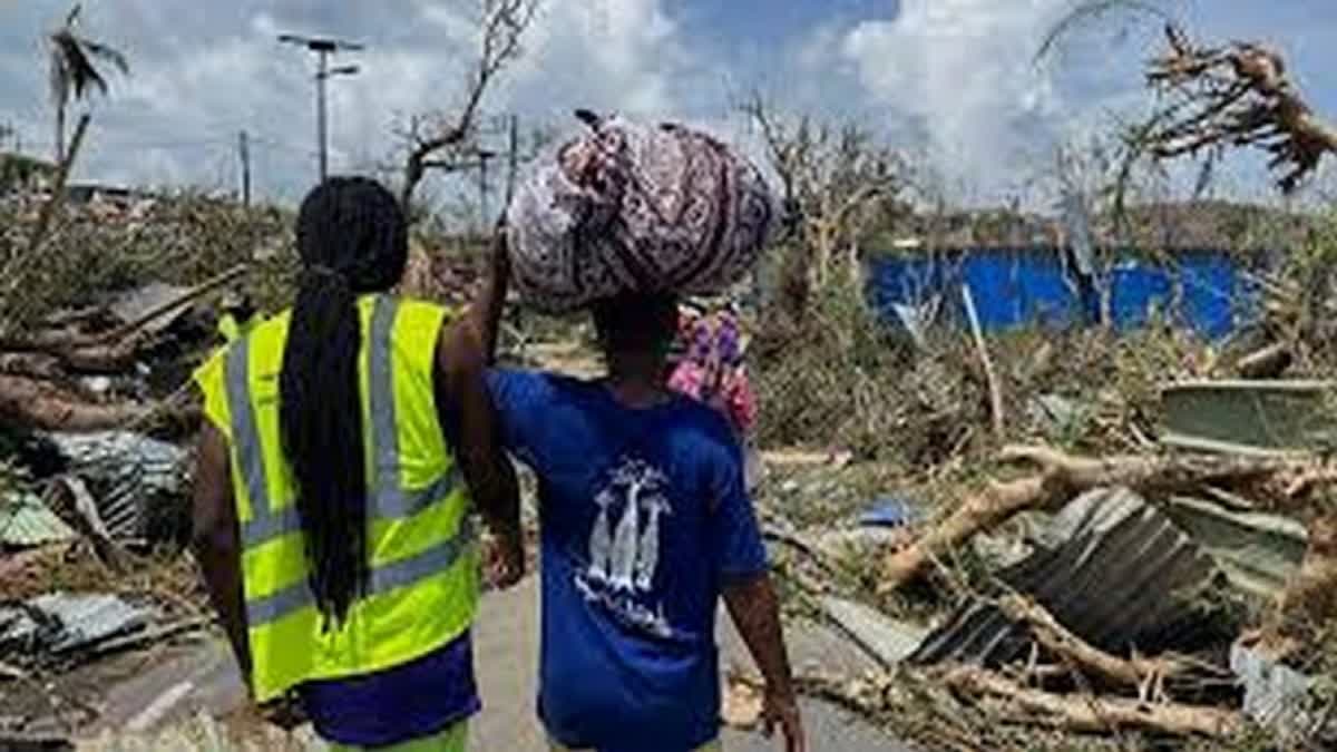
[[[960,314],[960,285],[975,298],[985,331],[1024,325],[1071,326],[1100,321],[1100,289],[1110,296],[1110,322],[1119,331],[1169,318],[1207,337],[1229,335],[1250,310],[1238,262],[1211,250],[1177,252],[1166,260],[1128,253],[1103,280],[1083,282],[1052,248],[980,249],[948,257],[884,257],[870,262],[874,305],[889,318],[893,305],[941,296]]]

